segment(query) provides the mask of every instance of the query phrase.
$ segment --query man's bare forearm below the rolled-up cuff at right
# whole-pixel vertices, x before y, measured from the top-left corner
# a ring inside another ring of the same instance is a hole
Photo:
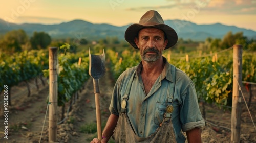
[[[188,143],[201,143],[201,128],[194,128],[186,132]]]

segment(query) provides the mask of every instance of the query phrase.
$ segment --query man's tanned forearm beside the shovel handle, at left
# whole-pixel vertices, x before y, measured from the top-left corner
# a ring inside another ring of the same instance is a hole
[[[115,130],[116,124],[118,121],[118,116],[111,114],[108,122],[106,122],[106,126],[102,132],[102,136],[106,137],[107,140],[113,135],[113,131]]]

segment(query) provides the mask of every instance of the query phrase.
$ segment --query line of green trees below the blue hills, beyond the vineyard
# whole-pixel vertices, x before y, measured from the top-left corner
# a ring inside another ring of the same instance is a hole
[[[102,47],[105,47],[106,45],[111,45],[114,49],[117,45],[118,47],[130,47],[129,43],[124,40],[119,40],[117,37],[106,36],[106,38],[97,41],[88,41],[88,39],[84,38],[52,39],[50,35],[45,32],[34,32],[33,35],[29,37],[24,30],[19,29],[9,31],[2,39],[0,39],[0,51],[11,54],[24,50],[46,49],[49,45],[59,47],[65,43],[70,44],[70,52],[76,52],[77,46],[79,45],[88,45],[90,47],[95,47],[95,49],[102,49]],[[196,46],[197,49],[202,50],[202,52],[223,50],[234,44],[242,44],[244,50],[256,51],[256,40],[244,36],[243,32],[233,34],[230,31],[224,35],[222,39],[208,37],[202,42],[192,41],[191,39],[184,40],[181,37],[173,49],[185,52],[188,50],[187,48],[189,48],[189,44]]]

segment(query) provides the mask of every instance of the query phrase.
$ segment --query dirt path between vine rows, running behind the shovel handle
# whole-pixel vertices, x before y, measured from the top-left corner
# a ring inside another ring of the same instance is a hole
[[[106,70],[106,74],[99,79],[102,124],[108,120],[110,115],[109,104],[115,84],[111,79],[108,69]],[[77,104],[75,104],[71,116],[75,119],[73,129],[76,132],[76,135],[75,137],[70,138],[69,142],[90,142],[92,138],[97,137],[96,133],[91,134],[80,132],[80,130],[82,130],[81,127],[96,123],[95,96],[92,78],[88,80],[84,91],[79,95],[79,100],[77,101]]]

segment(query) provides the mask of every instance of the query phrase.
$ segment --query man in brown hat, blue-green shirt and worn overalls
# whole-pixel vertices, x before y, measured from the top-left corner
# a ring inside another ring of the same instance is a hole
[[[101,142],[112,135],[116,142],[185,142],[181,130],[188,142],[201,142],[205,122],[195,86],[162,56],[176,44],[177,33],[151,10],[127,28],[125,39],[140,50],[141,62],[118,78]]]

